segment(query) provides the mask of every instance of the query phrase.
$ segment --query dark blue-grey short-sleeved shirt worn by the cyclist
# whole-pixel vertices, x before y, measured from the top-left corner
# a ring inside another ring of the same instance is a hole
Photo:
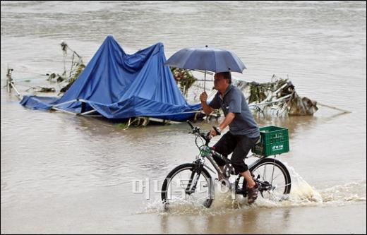
[[[231,134],[247,135],[249,138],[256,138],[260,135],[258,124],[253,119],[245,96],[239,88],[229,85],[223,97],[220,92],[217,92],[209,106],[213,109],[222,108],[224,116],[227,116],[228,113],[235,114],[233,121],[229,123]]]

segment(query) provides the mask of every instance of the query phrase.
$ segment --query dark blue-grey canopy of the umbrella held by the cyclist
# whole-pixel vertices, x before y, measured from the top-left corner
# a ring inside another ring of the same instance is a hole
[[[173,54],[164,64],[215,73],[227,71],[242,73],[246,68],[241,59],[233,52],[211,47],[183,48]]]

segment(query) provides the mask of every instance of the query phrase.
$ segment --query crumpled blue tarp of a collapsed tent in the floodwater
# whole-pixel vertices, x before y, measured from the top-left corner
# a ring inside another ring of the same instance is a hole
[[[200,109],[186,102],[168,66],[162,43],[126,54],[111,35],[62,97],[25,96],[20,104],[48,110],[52,106],[80,113],[95,109],[108,119],[154,116],[181,121]],[[85,106],[82,110],[82,102]]]

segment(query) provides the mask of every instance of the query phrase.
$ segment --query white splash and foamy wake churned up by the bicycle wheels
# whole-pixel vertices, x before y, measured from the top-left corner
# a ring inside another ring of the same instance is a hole
[[[286,163],[285,165],[291,175],[292,186],[291,193],[282,200],[267,200],[259,195],[253,205],[248,205],[247,198],[235,195],[233,200],[234,194],[231,191],[223,190],[223,186],[215,183],[215,200],[209,209],[199,204],[175,201],[170,205],[169,210],[164,210],[162,201],[157,199],[148,203],[138,214],[224,215],[234,210],[248,210],[256,207],[340,206],[366,202],[366,180],[316,189],[307,183],[293,167],[289,167]]]

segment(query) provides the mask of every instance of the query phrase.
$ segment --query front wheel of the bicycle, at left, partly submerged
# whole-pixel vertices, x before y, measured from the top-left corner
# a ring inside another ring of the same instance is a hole
[[[212,205],[214,188],[212,177],[197,164],[182,164],[173,169],[162,185],[162,203],[167,209],[174,205]]]

